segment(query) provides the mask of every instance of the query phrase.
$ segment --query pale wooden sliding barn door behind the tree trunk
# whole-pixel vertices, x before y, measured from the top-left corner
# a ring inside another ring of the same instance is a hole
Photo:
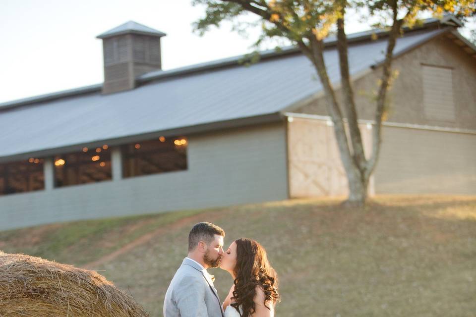
[[[348,181],[331,121],[292,117],[288,122],[290,198],[348,195]],[[371,130],[360,126],[367,153]],[[373,179],[369,194],[373,194]]]

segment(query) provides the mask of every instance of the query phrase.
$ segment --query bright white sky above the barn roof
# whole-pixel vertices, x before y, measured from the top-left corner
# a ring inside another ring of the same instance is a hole
[[[167,34],[164,70],[253,51],[259,29],[244,38],[224,24],[200,37],[191,24],[203,15],[191,0],[0,0],[0,103],[102,83],[96,36],[129,20]],[[366,29],[356,19],[346,27]]]

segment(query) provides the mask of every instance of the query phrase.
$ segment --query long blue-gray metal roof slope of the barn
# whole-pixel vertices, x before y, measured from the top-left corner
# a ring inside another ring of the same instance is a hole
[[[443,32],[407,33],[397,40],[395,55]],[[379,63],[386,46],[386,40],[350,45],[351,75]],[[338,83],[336,49],[327,49],[324,59],[331,81]],[[154,133],[185,134],[212,125],[223,128],[249,120],[279,120],[282,110],[321,91],[313,66],[300,53],[277,55],[248,67],[237,65],[236,60],[233,65],[221,65],[163,71],[133,90],[115,94],[102,95],[93,89],[0,111],[0,160],[51,155]]]

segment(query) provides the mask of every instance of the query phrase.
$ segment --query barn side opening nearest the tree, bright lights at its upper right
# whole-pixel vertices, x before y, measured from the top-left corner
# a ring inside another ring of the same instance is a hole
[[[160,137],[122,147],[122,175],[133,177],[187,169],[187,139]]]

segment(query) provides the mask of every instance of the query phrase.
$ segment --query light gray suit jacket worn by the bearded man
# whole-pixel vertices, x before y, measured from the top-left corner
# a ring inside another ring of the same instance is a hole
[[[164,317],[223,317],[222,305],[209,274],[183,259],[165,294]]]

